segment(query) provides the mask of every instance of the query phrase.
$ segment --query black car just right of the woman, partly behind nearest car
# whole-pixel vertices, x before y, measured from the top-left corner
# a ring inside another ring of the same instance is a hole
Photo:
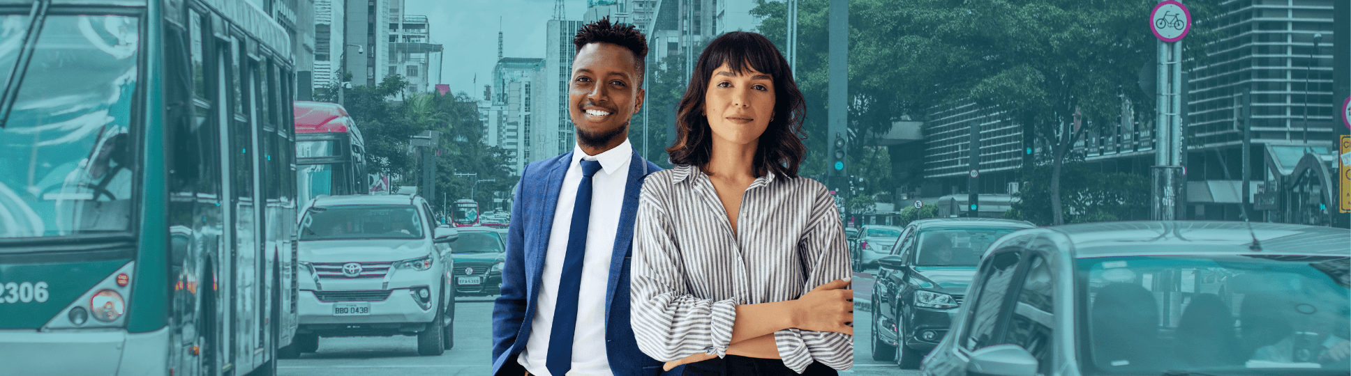
[[[919,220],[884,253],[873,284],[873,360],[915,369],[947,333],[985,248],[1035,228],[994,218]]]

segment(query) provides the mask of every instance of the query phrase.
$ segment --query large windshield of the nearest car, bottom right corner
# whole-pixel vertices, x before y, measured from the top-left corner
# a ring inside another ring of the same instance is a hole
[[[1332,368],[1347,375],[1348,268],[1344,256],[1081,259],[1085,367],[1155,375]]]

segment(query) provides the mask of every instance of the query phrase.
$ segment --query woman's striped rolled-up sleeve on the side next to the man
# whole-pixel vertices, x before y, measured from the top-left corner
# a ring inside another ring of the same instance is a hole
[[[732,340],[736,302],[698,299],[688,291],[671,220],[657,198],[662,187],[643,185],[635,222],[631,323],[638,348],[661,361],[696,353],[723,357]]]

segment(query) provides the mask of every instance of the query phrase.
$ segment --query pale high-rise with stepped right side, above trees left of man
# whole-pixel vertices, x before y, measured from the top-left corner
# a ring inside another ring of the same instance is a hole
[[[408,81],[408,92],[428,93],[440,84],[442,44],[431,43],[427,16],[409,15],[404,0],[389,1],[389,61],[381,74],[399,74]]]

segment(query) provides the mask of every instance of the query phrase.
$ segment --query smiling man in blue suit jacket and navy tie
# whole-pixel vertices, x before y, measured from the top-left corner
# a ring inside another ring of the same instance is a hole
[[[493,375],[658,375],[662,363],[638,349],[628,325],[638,194],[661,170],[628,143],[647,42],[607,18],[573,44],[577,147],[521,171],[493,306]]]

